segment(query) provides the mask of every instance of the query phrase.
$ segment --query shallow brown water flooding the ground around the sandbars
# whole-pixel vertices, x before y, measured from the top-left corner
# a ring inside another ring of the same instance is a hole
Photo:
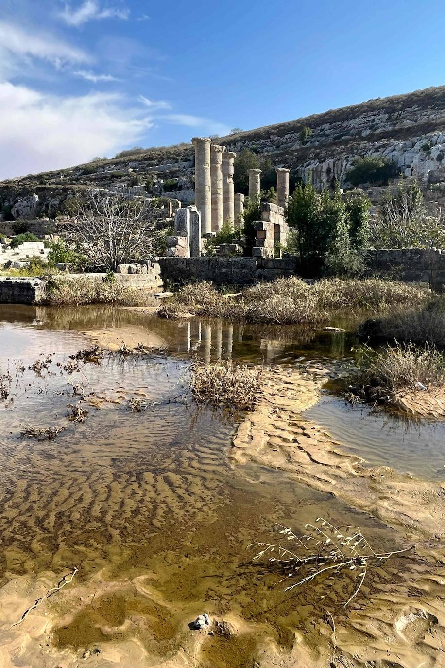
[[[110,355],[73,375],[60,366],[67,355],[89,345],[81,331],[147,324],[171,354],[126,360]],[[288,365],[308,361],[319,367],[338,360],[347,364],[353,359],[351,335],[161,321],[125,309],[1,306],[0,337],[1,369],[11,374],[11,396],[0,406],[0,573],[60,572],[77,564],[80,580],[101,570],[110,581],[124,582],[112,597],[98,595],[97,608],[91,605],[90,611],[88,604],[80,617],[61,627],[54,639],[58,647],[112,640],[112,634],[103,637],[101,626],[117,627],[137,612],[151,620],[149,633],[141,631],[139,641],[163,656],[177,649],[180,616],[193,619],[204,609],[267,622],[272,636],[285,645],[287,616],[295,617],[298,601],[307,606],[314,593],[297,593],[292,601],[281,587],[271,593],[264,579],[252,574],[248,542],[269,538],[274,522],[300,529],[317,516],[340,524],[360,522],[377,544],[385,540],[377,522],[331,496],[294,484],[279,472],[234,468],[229,453],[236,416],[183,400],[183,372],[192,355],[207,361],[222,356]],[[49,369],[41,375],[27,368],[50,353]],[[16,371],[17,360],[23,362],[23,373]],[[73,384],[87,397],[85,424],[65,417],[67,404],[79,398],[67,393]],[[153,405],[132,413],[131,397]],[[418,451],[418,441],[401,446],[400,433],[390,429],[384,442],[381,416],[340,409],[338,399],[329,395],[306,415],[358,454],[371,459],[366,450],[372,452],[376,463],[399,466],[402,454],[408,458]],[[53,424],[67,426],[53,441],[20,435],[25,425]],[[428,434],[428,453],[437,453],[443,442],[438,428],[424,426],[423,434]],[[417,468],[410,470],[431,472],[428,457],[416,459]],[[129,577],[138,574],[153,578],[157,603],[148,605],[131,589]],[[177,617],[172,605],[180,611]],[[246,637],[242,647],[234,645],[233,657],[226,647],[226,659],[210,647],[209,665],[252,665],[252,642]],[[243,653],[246,662],[240,663]]]

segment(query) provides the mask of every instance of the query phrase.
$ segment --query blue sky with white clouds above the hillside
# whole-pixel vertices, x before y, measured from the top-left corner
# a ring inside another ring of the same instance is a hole
[[[445,83],[441,0],[0,0],[0,178]]]

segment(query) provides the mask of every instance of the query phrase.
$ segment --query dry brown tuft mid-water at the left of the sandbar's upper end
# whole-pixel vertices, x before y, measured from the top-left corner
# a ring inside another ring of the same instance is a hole
[[[188,383],[197,403],[250,410],[261,392],[262,369],[249,369],[230,360],[194,362],[189,367]]]

